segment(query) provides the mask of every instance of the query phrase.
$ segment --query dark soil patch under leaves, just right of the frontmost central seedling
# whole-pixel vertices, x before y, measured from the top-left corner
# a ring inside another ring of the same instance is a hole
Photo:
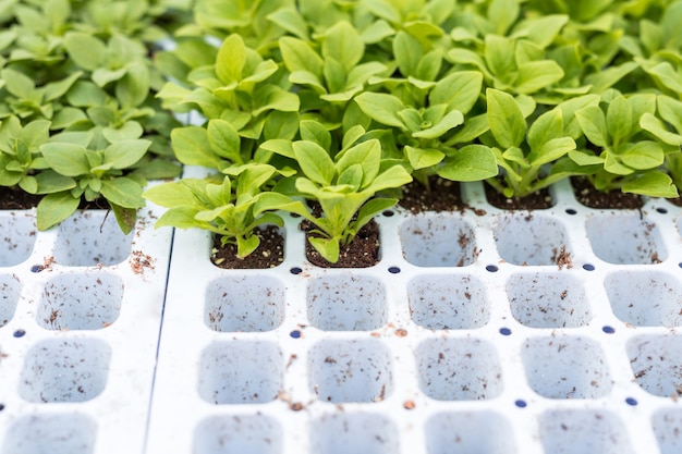
[[[429,187],[413,181],[403,187],[403,195],[398,205],[413,213],[456,211],[463,208],[459,183],[434,175],[429,177]]]

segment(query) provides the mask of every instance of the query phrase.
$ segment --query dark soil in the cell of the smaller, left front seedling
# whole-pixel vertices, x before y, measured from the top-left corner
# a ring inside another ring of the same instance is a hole
[[[210,261],[218,268],[228,270],[254,270],[275,268],[284,261],[284,237],[276,225],[258,229],[256,235],[260,238],[260,245],[251,255],[239,258],[236,245],[220,244],[220,237],[214,235],[214,247]]]

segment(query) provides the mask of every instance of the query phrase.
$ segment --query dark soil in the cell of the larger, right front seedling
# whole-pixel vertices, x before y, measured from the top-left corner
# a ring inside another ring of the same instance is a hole
[[[374,220],[357,232],[350,245],[341,245],[336,263],[322,258],[307,241],[307,232],[313,228],[307,221],[301,223],[301,229],[306,232],[305,255],[310,263],[321,268],[368,268],[379,262],[379,225]]]

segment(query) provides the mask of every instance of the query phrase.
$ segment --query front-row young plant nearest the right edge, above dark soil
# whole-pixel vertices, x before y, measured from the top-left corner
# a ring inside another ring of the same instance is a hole
[[[602,107],[588,106],[575,112],[587,144],[570,158],[589,169],[587,179],[598,191],[677,197],[670,176],[660,170],[666,159],[663,146],[647,139],[640,126],[656,112],[656,95],[625,97],[609,90],[601,99]]]

